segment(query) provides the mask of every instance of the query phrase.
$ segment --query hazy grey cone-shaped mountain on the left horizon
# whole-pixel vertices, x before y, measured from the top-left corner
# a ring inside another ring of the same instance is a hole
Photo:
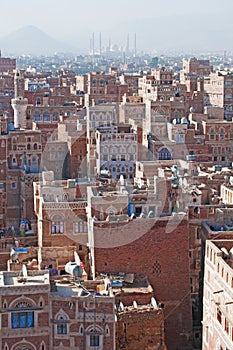
[[[0,38],[2,51],[13,55],[51,55],[55,52],[77,52],[70,44],[58,41],[35,26],[26,26]]]

